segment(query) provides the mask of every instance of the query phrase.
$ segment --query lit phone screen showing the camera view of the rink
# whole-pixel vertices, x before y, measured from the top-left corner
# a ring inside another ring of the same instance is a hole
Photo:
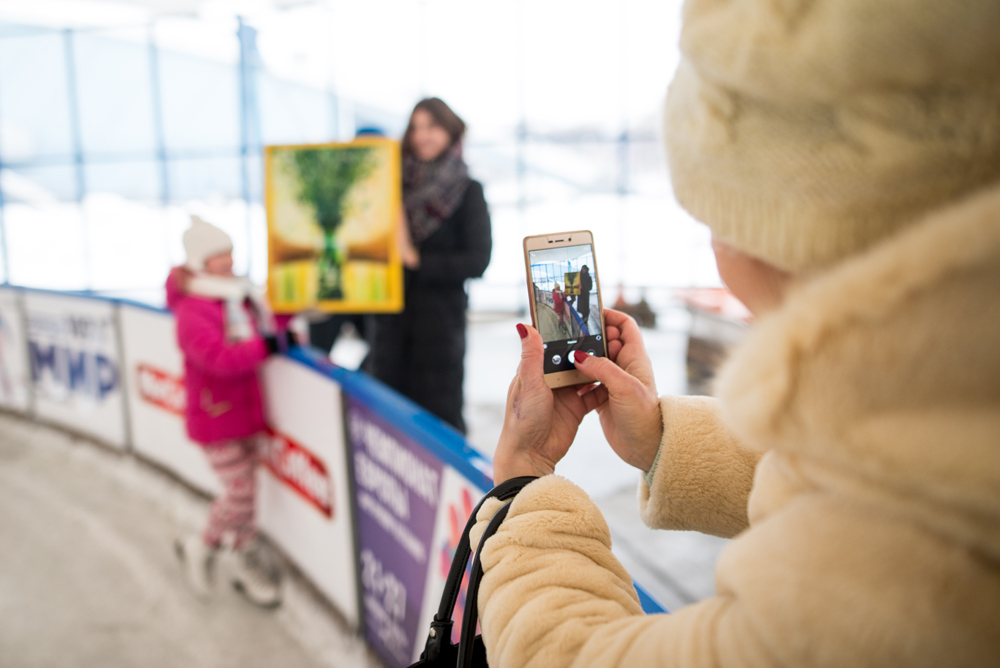
[[[545,344],[545,373],[571,371],[573,351],[604,356],[597,268],[591,244],[528,251],[535,322]]]

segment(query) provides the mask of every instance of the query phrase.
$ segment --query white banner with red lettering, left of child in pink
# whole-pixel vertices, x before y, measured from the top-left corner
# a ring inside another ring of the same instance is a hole
[[[219,493],[218,478],[184,428],[184,359],[177,347],[173,316],[122,304],[119,317],[132,447],[194,487]]]

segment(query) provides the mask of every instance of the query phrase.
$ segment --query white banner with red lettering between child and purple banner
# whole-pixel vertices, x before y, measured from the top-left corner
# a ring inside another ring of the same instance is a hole
[[[257,521],[352,626],[360,623],[340,386],[288,358],[261,371],[271,433]]]

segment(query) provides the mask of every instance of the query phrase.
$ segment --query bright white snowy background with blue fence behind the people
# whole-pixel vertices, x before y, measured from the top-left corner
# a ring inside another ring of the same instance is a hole
[[[474,311],[526,307],[521,239],[594,232],[605,299],[720,285],[673,199],[660,108],[679,2],[0,1],[0,276],[158,300],[188,214],[267,272],[261,147],[469,125],[493,260]]]

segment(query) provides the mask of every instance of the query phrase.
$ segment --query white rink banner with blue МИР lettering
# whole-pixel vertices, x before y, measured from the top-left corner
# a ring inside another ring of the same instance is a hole
[[[24,305],[36,414],[124,449],[115,305],[31,291]]]

